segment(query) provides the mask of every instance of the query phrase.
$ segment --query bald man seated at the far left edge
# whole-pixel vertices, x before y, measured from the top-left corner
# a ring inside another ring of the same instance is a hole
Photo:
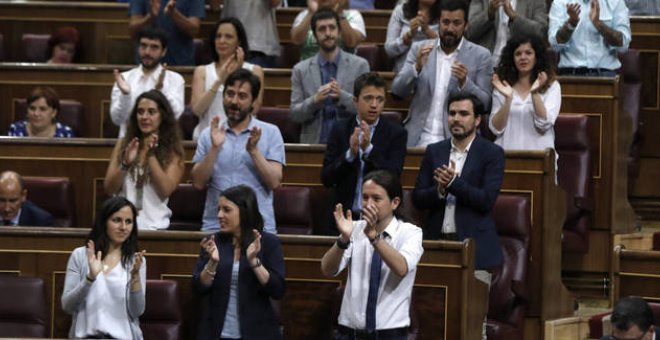
[[[0,225],[53,226],[53,216],[27,200],[21,175],[13,171],[0,174]]]

